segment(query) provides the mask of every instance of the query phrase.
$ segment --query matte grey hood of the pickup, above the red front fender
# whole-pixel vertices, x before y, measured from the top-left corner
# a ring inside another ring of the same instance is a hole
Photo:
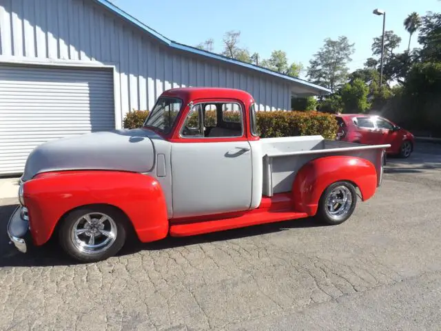
[[[21,180],[59,170],[150,172],[154,165],[152,139],[162,140],[151,130],[125,129],[48,141],[29,154]]]

